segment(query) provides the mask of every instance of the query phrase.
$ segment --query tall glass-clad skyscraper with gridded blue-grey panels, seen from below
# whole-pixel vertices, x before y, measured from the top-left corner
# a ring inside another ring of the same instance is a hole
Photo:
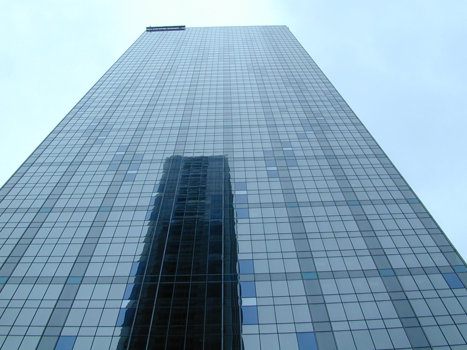
[[[467,267],[285,26],[149,27],[0,191],[12,350],[465,350]]]

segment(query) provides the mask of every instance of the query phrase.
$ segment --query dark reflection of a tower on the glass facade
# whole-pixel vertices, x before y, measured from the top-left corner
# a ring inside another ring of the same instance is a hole
[[[240,350],[233,194],[224,156],[166,159],[119,349]]]

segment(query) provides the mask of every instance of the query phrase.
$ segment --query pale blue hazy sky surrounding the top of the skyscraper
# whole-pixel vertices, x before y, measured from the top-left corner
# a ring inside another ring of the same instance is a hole
[[[148,25],[287,25],[467,257],[465,0],[23,0],[0,11],[4,183]]]

